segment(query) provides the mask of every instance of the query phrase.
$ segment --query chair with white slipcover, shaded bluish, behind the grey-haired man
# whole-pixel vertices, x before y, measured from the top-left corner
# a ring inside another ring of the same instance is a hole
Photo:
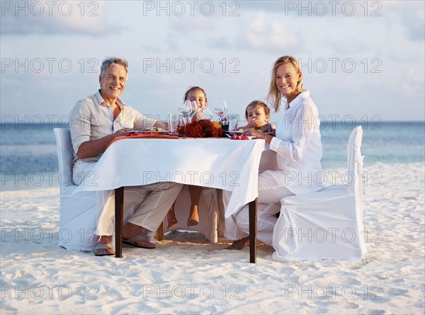
[[[60,221],[58,244],[69,250],[94,251],[96,240],[96,191],[77,194],[72,181],[74,152],[69,129],[55,128],[57,157],[59,159]]]

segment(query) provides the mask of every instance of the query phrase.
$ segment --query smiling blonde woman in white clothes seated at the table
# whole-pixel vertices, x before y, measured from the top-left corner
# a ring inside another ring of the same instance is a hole
[[[266,140],[270,149],[276,151],[278,169],[259,174],[257,216],[258,239],[272,245],[277,221],[274,215],[280,211],[280,199],[321,189],[322,142],[317,107],[310,92],[302,87],[302,71],[295,57],[283,56],[273,64],[267,99],[276,112],[283,107],[276,135],[254,128],[245,130],[244,134]],[[246,245],[248,214],[245,206],[227,219],[226,231],[234,226],[239,231],[239,239],[228,249],[242,249]]]

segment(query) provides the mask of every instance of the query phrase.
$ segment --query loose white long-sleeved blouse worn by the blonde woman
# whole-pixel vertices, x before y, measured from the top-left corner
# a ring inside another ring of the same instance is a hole
[[[295,195],[322,189],[322,142],[317,107],[310,92],[300,93],[276,126],[270,149],[276,151],[278,170],[270,172]]]

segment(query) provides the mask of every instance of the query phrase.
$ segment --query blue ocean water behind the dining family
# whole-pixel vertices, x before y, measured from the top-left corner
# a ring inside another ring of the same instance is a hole
[[[360,124],[359,124],[360,125]],[[425,122],[362,122],[364,166],[425,161]],[[66,124],[0,124],[1,190],[58,187],[53,129]],[[346,168],[351,130],[343,122],[322,124],[322,168]]]

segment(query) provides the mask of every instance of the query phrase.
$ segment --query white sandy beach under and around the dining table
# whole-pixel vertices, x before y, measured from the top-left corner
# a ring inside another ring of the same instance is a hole
[[[0,312],[424,314],[424,164],[363,171],[364,260],[282,263],[259,246],[251,264],[187,233],[95,258],[57,246],[59,188],[1,192]]]

